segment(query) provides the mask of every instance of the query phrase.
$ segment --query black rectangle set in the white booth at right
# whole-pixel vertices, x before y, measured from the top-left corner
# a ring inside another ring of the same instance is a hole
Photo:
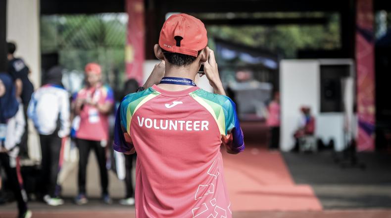
[[[342,112],[342,78],[350,74],[350,65],[320,65],[320,112]]]

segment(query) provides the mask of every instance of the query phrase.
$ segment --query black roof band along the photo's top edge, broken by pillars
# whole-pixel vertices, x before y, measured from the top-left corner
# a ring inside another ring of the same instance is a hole
[[[124,12],[126,0],[41,0],[42,14]],[[162,12],[341,11],[354,0],[145,0]],[[374,0],[375,10],[391,10],[390,0]],[[354,8],[353,8],[354,10]]]

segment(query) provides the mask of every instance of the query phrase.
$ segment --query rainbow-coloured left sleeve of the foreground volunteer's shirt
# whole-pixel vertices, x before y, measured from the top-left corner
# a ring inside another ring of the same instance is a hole
[[[159,93],[149,88],[143,92],[125,96],[115,115],[114,144],[113,149],[117,152],[134,152],[130,124],[133,114],[147,101],[158,96]]]

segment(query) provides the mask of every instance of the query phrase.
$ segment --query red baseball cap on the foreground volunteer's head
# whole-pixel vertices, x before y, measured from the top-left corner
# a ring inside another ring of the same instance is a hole
[[[208,44],[204,24],[194,16],[171,15],[160,31],[160,48],[173,53],[197,56]]]

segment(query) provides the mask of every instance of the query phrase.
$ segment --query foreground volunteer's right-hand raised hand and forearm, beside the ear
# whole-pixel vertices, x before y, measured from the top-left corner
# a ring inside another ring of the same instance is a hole
[[[220,80],[216,59],[214,57],[214,52],[211,49],[209,49],[209,59],[203,63],[203,70],[205,72],[206,78],[209,80],[209,84],[213,87],[214,92],[219,95],[225,95],[223,84]],[[199,76],[202,76],[202,74]]]

